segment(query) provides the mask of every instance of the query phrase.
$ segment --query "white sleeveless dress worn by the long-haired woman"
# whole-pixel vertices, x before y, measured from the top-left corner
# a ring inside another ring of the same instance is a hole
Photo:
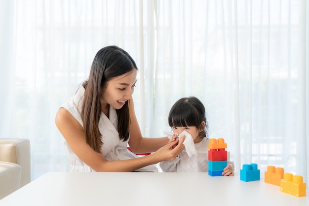
[[[81,126],[83,126],[83,124],[80,117],[80,111],[84,91],[84,88],[80,86],[77,93],[62,105],[62,107],[67,109],[77,119]],[[119,139],[117,128],[118,121],[116,109],[110,106],[110,119],[102,112],[99,120],[99,130],[102,135],[101,140],[103,142],[101,152],[104,157],[109,161],[139,158],[127,149],[128,140],[122,141]],[[65,150],[67,152],[68,161],[71,165],[71,172],[95,172],[77,157],[66,142]],[[155,165],[146,166],[136,170],[136,172],[157,171],[158,170]]]

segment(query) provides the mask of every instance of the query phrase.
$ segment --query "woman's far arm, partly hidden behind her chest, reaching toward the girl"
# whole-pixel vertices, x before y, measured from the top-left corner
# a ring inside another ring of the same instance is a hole
[[[168,137],[147,138],[142,136],[134,111],[133,99],[130,101],[131,127],[129,145],[132,151],[135,153],[154,152],[158,148],[166,145],[169,141]]]

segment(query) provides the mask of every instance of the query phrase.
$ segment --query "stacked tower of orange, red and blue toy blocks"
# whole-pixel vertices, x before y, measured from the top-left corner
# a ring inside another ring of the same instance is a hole
[[[208,144],[208,174],[222,176],[223,169],[228,165],[227,143],[224,138],[211,138]]]

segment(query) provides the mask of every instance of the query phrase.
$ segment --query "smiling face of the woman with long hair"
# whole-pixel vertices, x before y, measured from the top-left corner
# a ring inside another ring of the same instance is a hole
[[[136,83],[137,70],[117,76],[107,82],[101,95],[101,108],[110,104],[115,109],[120,109],[129,99],[131,99]]]

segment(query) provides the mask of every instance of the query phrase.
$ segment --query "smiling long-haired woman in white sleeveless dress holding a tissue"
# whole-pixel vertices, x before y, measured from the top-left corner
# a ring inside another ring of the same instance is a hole
[[[67,143],[73,172],[152,171],[154,164],[173,160],[184,149],[182,138],[142,137],[132,100],[137,66],[117,46],[96,54],[89,74],[58,110],[56,126]],[[135,153],[154,152],[137,158]]]

